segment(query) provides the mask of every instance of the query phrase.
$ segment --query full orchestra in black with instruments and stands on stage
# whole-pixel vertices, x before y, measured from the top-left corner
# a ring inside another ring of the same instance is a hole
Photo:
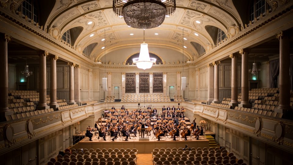
[[[91,131],[95,130],[95,135],[103,137],[106,141],[106,136],[109,135],[114,141],[119,137],[125,137],[125,141],[128,141],[130,134],[133,137],[139,133],[139,137],[144,138],[145,135],[156,137],[158,141],[161,141],[162,136],[171,136],[174,141],[176,137],[181,137],[187,140],[188,136],[194,135],[198,140],[200,135],[203,135],[203,127],[196,126],[195,119],[191,122],[190,126],[186,126],[184,120],[184,108],[179,106],[175,108],[172,106],[162,107],[162,111],[158,112],[156,108],[151,109],[150,106],[147,109],[136,109],[128,111],[124,106],[120,110],[114,108],[110,109],[107,118],[104,120],[106,123],[102,124],[102,119],[99,118],[95,123],[95,128],[87,127],[86,136],[92,141]],[[177,111],[180,110],[180,111]],[[150,117],[152,116],[152,117]]]

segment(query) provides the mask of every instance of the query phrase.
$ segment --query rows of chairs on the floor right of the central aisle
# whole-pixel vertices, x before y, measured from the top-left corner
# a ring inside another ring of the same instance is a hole
[[[152,160],[154,164],[179,164],[179,165],[187,165],[187,164],[239,164],[246,165],[243,163],[242,159],[236,161],[236,156],[233,153],[227,153],[227,150],[222,147],[214,148],[186,148],[183,151],[182,148],[170,149],[170,148],[161,148],[154,149],[152,152]]]

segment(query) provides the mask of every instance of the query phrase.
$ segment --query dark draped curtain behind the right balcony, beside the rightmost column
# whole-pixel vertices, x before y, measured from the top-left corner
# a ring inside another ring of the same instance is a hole
[[[279,65],[280,60],[271,60],[269,61],[269,79],[270,79],[270,88],[277,88],[278,75],[279,75]]]

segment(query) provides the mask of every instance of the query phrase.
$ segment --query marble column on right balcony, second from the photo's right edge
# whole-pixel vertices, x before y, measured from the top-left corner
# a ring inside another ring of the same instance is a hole
[[[249,72],[248,72],[248,50],[241,49],[239,53],[242,55],[241,62],[241,104],[238,104],[239,107],[250,108],[251,104],[249,104]]]

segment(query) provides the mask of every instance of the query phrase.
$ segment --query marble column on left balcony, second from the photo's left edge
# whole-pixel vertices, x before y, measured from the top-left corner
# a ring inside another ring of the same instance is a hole
[[[47,97],[47,65],[46,65],[46,57],[49,52],[47,51],[39,51],[40,57],[40,72],[39,72],[39,105],[38,109],[48,109],[50,106],[47,105],[46,97]]]

